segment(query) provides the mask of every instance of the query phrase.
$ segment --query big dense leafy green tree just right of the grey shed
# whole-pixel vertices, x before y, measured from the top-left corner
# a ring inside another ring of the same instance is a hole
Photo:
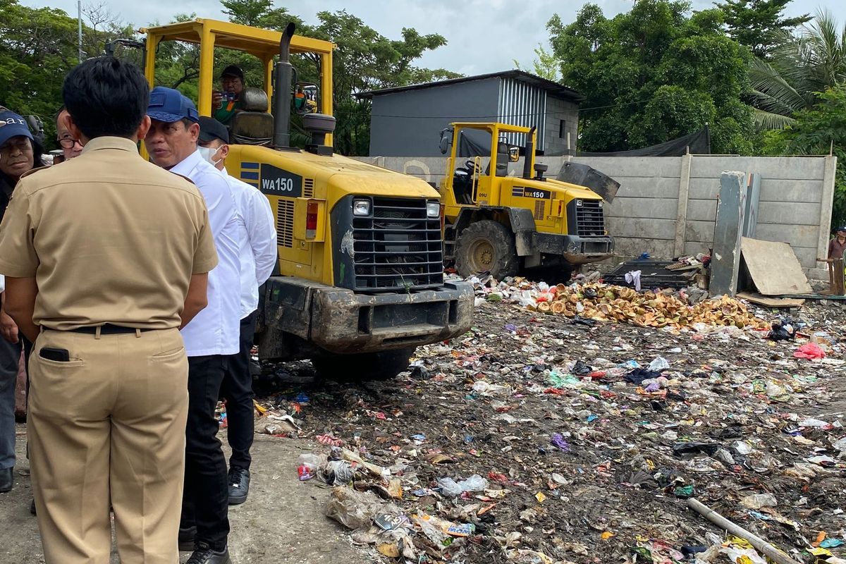
[[[722,31],[717,9],[690,14],[689,3],[637,0],[607,19],[585,4],[564,25],[547,23],[563,84],[585,95],[580,111],[584,151],[624,151],[711,127],[714,151],[749,153],[750,52]]]

